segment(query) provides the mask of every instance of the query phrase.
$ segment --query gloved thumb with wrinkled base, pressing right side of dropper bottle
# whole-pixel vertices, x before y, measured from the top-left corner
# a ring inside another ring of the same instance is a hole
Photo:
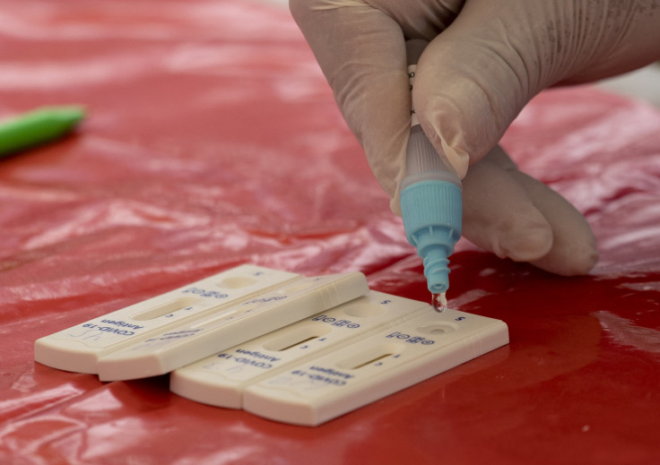
[[[657,59],[653,3],[466,2],[417,66],[412,99],[424,132],[465,174],[539,91]]]

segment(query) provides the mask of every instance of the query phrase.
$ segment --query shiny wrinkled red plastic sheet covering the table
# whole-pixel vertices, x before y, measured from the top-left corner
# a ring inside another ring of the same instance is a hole
[[[660,113],[552,90],[505,146],[595,229],[562,279],[461,243],[450,305],[507,348],[324,426],[287,426],[33,362],[34,340],[239,263],[363,271],[429,299],[283,8],[0,0],[0,116],[83,103],[77,135],[0,161],[0,463],[657,463]]]

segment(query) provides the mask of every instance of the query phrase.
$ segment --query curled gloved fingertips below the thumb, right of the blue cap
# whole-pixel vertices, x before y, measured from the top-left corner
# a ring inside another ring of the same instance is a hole
[[[499,146],[470,168],[463,187],[463,232],[473,244],[561,275],[584,274],[597,261],[582,215]]]

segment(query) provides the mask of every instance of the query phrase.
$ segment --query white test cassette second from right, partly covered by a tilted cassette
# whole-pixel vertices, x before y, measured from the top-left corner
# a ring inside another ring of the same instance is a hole
[[[368,296],[184,366],[172,373],[170,389],[191,400],[240,409],[243,392],[250,384],[428,311],[428,304],[371,291]]]

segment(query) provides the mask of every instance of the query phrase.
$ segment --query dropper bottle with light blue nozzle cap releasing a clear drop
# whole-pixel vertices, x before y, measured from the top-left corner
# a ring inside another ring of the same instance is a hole
[[[425,45],[423,40],[406,42],[411,93],[417,61]],[[407,174],[400,195],[405,237],[423,259],[431,304],[441,312],[447,307],[447,257],[454,252],[454,245],[461,237],[461,180],[421,130],[414,108],[411,110],[411,133],[406,151]]]

